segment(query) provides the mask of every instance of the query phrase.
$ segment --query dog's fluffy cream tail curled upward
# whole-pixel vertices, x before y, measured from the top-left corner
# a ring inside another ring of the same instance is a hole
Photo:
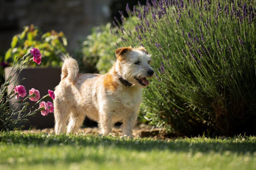
[[[77,61],[68,54],[62,55],[61,59],[63,61],[61,67],[61,80],[66,79],[69,82],[73,82],[79,71]]]

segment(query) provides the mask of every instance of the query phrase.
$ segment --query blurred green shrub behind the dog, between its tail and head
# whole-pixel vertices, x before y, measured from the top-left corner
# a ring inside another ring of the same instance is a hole
[[[111,24],[93,27],[91,35],[80,40],[80,47],[74,56],[78,61],[79,70],[84,73],[97,72],[105,74],[115,61],[116,41],[110,31]],[[113,34],[117,29],[113,29]]]

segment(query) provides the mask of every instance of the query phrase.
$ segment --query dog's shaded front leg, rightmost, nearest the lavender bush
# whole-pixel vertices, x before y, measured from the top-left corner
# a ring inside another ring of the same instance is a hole
[[[133,126],[137,120],[137,112],[132,112],[131,114],[128,114],[127,117],[125,117],[123,119],[123,135],[127,135],[127,136],[130,136],[132,137],[132,129],[133,129]]]

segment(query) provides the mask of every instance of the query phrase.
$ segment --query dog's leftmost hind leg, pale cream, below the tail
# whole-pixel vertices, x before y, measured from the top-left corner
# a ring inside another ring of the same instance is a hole
[[[55,134],[64,133],[69,119],[69,108],[66,104],[57,104],[56,101],[54,101],[54,107]]]

